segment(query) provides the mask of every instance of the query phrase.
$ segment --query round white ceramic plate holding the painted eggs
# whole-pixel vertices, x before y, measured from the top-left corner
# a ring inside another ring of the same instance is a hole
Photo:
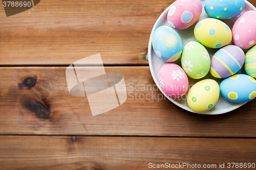
[[[196,23],[194,23],[194,25],[192,25],[191,27],[189,27],[185,30],[176,30],[177,33],[181,37],[183,47],[189,41],[197,41],[195,36],[194,36],[194,28],[195,28],[196,24],[202,19],[209,18],[209,16],[205,13],[205,10],[204,10],[204,1],[205,0],[201,1],[203,10],[202,10],[202,13],[201,13],[199,19],[196,21]],[[164,10],[164,12],[159,16],[159,18],[157,19],[157,21],[156,21],[156,23],[155,23],[155,25],[152,29],[151,35],[150,35],[150,42],[148,43],[148,62],[150,64],[151,75],[152,75],[157,87],[160,89],[160,91],[165,95],[165,97],[168,100],[170,100],[171,102],[173,102],[177,106],[179,106],[179,107],[181,107],[181,108],[183,108],[187,111],[198,113],[198,112],[195,112],[195,111],[191,110],[188,107],[187,101],[186,101],[187,93],[183,96],[183,99],[172,99],[172,98],[169,98],[169,96],[167,96],[159,86],[159,72],[160,72],[161,67],[166,62],[162,61],[155,54],[155,52],[153,50],[153,47],[152,47],[152,37],[153,37],[154,31],[158,27],[160,27],[160,26],[169,26],[168,22],[167,22],[167,13],[168,13],[169,9],[170,9],[170,6],[166,10]],[[253,5],[251,5],[248,1],[245,1],[245,9],[241,14],[243,14],[246,11],[251,11],[251,10],[256,11],[256,8]],[[237,17],[228,19],[228,20],[223,20],[223,21],[232,30],[234,22],[237,20],[237,18],[240,15],[238,15]],[[233,44],[233,42],[231,41],[230,44]],[[206,47],[206,49],[207,49],[207,51],[208,51],[208,53],[210,54],[211,57],[218,51],[218,49],[213,49],[213,48],[208,48],[208,47]],[[248,51],[248,49],[244,50],[245,53],[247,51]],[[174,63],[181,66],[180,58],[177,61],[175,61]],[[243,68],[244,67],[241,68],[241,70],[238,72],[238,74],[246,74],[246,72],[244,71]],[[209,71],[207,76],[205,76],[204,78],[199,79],[199,80],[191,79],[191,78],[188,77],[189,87],[191,87],[192,85],[194,85],[195,83],[197,83],[198,81],[203,80],[203,79],[214,79],[218,82],[218,84],[220,84],[221,81],[223,80],[223,79],[218,79],[218,78],[212,77],[211,74],[210,74],[210,71]],[[189,89],[188,89],[188,91],[189,91]],[[223,96],[220,94],[220,98],[219,98],[219,101],[217,102],[216,106],[214,108],[212,108],[211,110],[209,110],[207,112],[200,113],[200,114],[222,114],[222,113],[226,113],[226,112],[229,112],[231,110],[237,109],[237,108],[239,108],[240,106],[242,106],[244,104],[245,103],[230,102],[230,101],[226,100],[225,98],[223,98]]]

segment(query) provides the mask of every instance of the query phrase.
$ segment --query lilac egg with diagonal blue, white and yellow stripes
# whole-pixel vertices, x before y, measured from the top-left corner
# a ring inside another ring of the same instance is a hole
[[[241,69],[244,60],[244,51],[239,46],[224,46],[211,58],[210,73],[216,78],[227,78]]]

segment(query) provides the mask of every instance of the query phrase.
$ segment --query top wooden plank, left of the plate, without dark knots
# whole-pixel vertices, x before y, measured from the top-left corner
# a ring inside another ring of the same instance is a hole
[[[100,53],[110,65],[148,65],[155,21],[172,1],[41,1],[6,17],[0,8],[0,65],[69,65]]]

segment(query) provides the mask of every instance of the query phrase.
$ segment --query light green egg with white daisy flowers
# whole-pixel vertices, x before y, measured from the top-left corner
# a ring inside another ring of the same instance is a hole
[[[202,44],[191,41],[183,48],[181,65],[187,76],[201,79],[210,70],[210,56]]]

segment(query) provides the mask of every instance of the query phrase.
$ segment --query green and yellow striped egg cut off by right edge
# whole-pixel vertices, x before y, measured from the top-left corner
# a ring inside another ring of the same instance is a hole
[[[247,75],[256,78],[256,45],[254,45],[245,55],[244,69]]]

